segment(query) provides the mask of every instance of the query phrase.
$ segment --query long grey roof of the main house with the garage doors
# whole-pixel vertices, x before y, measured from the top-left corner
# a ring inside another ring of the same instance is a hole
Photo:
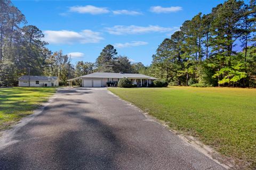
[[[80,78],[136,78],[136,79],[152,79],[155,80],[156,78],[144,75],[144,74],[130,74],[130,73],[99,73],[95,72],[92,74],[83,75]]]

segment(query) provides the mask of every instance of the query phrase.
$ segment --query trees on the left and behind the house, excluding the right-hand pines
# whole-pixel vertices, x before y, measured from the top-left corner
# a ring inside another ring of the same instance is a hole
[[[17,86],[17,79],[28,75],[28,69],[30,75],[55,76],[66,84],[68,79],[95,71],[138,72],[143,67],[142,63],[132,65],[127,57],[116,56],[111,45],[102,50],[95,63],[79,61],[74,65],[62,50],[52,53],[46,47],[42,31],[28,25],[25,15],[11,1],[0,1],[0,12],[0,86]]]

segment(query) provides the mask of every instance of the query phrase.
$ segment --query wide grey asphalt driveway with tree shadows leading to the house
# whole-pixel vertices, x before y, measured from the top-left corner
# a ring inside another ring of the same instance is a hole
[[[6,137],[0,169],[224,169],[106,88],[61,89]]]

